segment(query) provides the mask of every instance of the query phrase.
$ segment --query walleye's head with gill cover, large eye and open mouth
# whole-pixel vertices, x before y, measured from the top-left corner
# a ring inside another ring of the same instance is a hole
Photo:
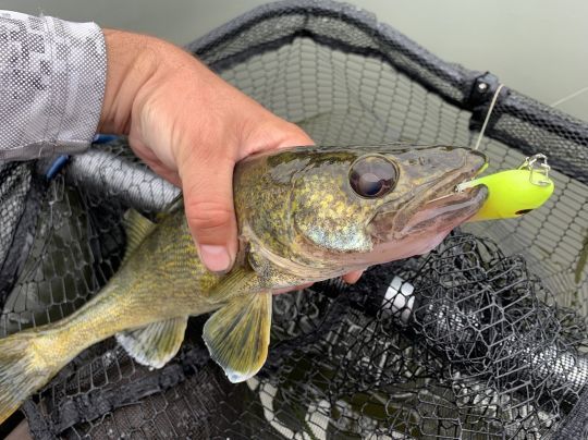
[[[455,191],[486,164],[467,148],[305,147],[266,160],[261,180],[282,188],[271,196],[278,216],[253,230],[258,247],[298,266],[344,272],[425,254],[488,195],[483,185]]]

